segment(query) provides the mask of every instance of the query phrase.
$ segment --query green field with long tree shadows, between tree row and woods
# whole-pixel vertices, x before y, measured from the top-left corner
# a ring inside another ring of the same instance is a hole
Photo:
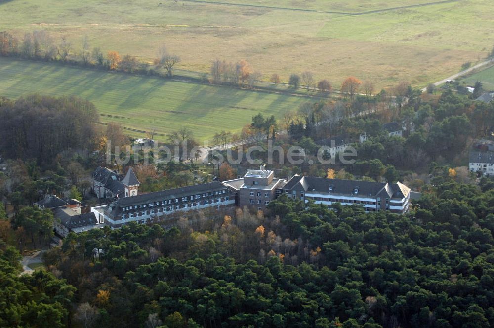
[[[166,135],[187,126],[203,142],[222,130],[240,131],[259,112],[280,118],[307,99],[0,58],[0,95],[16,98],[30,93],[80,96],[96,105],[102,122],[119,122],[139,131]],[[129,134],[142,137],[145,132]]]

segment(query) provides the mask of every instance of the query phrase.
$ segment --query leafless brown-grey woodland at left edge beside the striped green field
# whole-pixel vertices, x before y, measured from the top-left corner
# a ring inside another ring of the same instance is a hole
[[[93,104],[77,97],[30,95],[0,103],[0,148],[7,158],[52,163],[60,152],[92,149],[95,124]]]

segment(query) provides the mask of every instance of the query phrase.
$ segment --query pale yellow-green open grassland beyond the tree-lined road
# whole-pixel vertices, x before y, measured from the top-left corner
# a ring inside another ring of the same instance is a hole
[[[67,35],[74,50],[87,36],[90,46],[147,61],[165,44],[184,70],[209,72],[215,58],[246,59],[264,80],[309,70],[336,89],[354,75],[379,90],[439,81],[494,45],[492,0],[435,2],[11,0],[0,4],[0,31],[45,29]],[[410,5],[425,6],[393,9]],[[386,11],[366,13],[374,10]]]

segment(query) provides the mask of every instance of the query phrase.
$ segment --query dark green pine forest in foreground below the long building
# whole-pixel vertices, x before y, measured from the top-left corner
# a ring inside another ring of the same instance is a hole
[[[2,246],[0,326],[32,324],[34,303],[36,327],[491,327],[494,181],[434,184],[408,216],[282,196],[71,234],[20,279]]]

